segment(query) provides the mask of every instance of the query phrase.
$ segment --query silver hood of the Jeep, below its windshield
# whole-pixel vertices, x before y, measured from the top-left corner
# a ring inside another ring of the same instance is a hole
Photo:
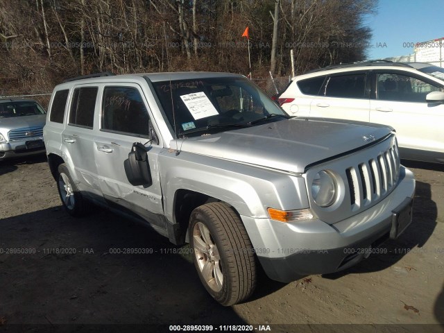
[[[179,139],[177,144],[180,151],[303,173],[311,164],[371,144],[392,131],[377,124],[293,118]],[[171,141],[171,148],[176,148],[176,140]]]

